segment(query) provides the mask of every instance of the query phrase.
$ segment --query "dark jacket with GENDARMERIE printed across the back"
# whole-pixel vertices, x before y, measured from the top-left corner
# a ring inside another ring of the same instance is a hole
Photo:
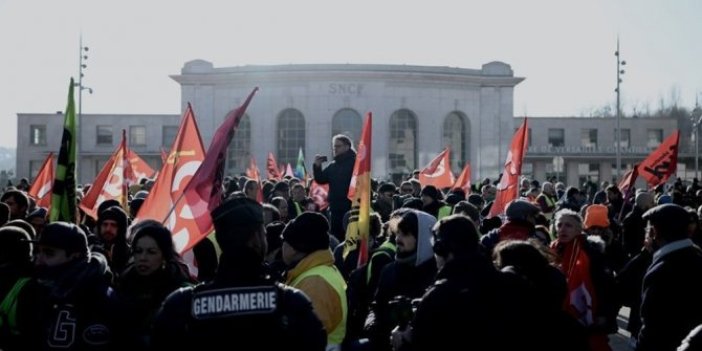
[[[250,251],[223,254],[212,282],[181,288],[168,296],[154,322],[153,348],[223,350],[256,345],[257,350],[324,350],[327,335],[310,300],[300,290],[268,278],[261,259],[255,256]],[[249,289],[274,294],[275,299],[265,305],[273,309],[251,312],[252,305],[240,300],[237,306],[241,309],[235,310],[233,296],[244,296],[240,292]],[[232,296],[229,312],[205,314],[229,306],[200,304],[206,300],[203,296],[212,296],[208,294]],[[203,314],[196,318],[195,311]]]

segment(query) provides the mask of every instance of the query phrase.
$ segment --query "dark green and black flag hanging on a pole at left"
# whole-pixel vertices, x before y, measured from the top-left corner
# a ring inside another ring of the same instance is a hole
[[[73,101],[73,78],[68,87],[68,104],[64,113],[63,137],[56,164],[56,178],[51,196],[49,221],[76,222],[76,104]]]

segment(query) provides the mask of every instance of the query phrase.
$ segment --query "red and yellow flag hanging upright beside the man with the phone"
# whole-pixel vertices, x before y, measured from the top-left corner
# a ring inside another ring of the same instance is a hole
[[[349,224],[351,230],[347,228],[343,256],[346,257],[349,252],[357,249],[359,266],[368,262],[369,255],[372,128],[373,114],[368,112],[363,122],[361,140],[356,149],[356,162],[348,192],[351,207],[358,209],[358,222]]]

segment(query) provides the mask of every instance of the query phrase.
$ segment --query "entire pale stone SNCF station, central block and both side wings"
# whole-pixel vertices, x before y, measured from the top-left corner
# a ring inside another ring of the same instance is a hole
[[[332,154],[333,135],[347,134],[357,143],[363,116],[372,112],[374,177],[397,181],[449,146],[454,174],[470,163],[473,179],[494,179],[522,122],[513,116],[513,97],[523,78],[501,62],[481,69],[352,64],[215,68],[194,60],[171,78],[181,85],[181,110],[193,106],[205,149],[227,112],[259,87],[230,145],[230,174],[243,173],[252,157],[265,172],[269,152],[294,168],[300,150],[310,169],[315,154]],[[180,120],[179,115],[83,114],[79,181],[94,179],[119,145],[122,130],[130,148],[159,169],[161,151],[170,149]],[[587,177],[615,179],[615,123],[614,118],[530,117],[523,174],[572,185]],[[60,113],[18,114],[18,177],[33,179],[48,153],[58,152],[62,125]],[[674,119],[623,118],[621,128],[625,170],[678,126]],[[681,144],[690,144],[689,134],[683,131]],[[679,162],[678,173],[691,178],[692,150],[681,148]]]

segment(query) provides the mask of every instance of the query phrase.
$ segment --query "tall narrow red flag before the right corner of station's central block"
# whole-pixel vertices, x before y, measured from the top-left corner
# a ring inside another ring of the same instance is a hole
[[[519,176],[522,174],[522,162],[524,161],[524,153],[529,140],[529,128],[527,128],[527,119],[517,129],[512,137],[512,145],[507,152],[507,160],[505,161],[505,169],[502,172],[502,179],[497,185],[497,195],[492,203],[488,218],[499,215],[504,212],[507,204],[516,199],[519,195]]]

